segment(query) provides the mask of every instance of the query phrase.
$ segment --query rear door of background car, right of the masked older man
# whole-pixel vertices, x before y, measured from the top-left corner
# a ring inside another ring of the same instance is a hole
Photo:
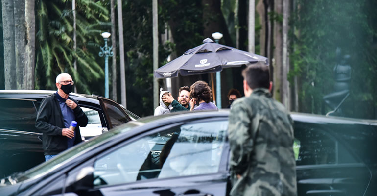
[[[131,118],[127,115],[125,109],[120,106],[117,102],[98,96],[99,104],[101,105],[102,111],[105,115],[105,119],[108,125],[108,129],[119,126],[123,123],[131,121]]]

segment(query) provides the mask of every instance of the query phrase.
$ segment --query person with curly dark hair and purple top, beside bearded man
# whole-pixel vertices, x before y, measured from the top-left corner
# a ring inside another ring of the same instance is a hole
[[[212,97],[211,88],[208,86],[207,82],[196,81],[190,87],[190,111],[197,110],[218,110],[216,105],[210,102]],[[194,108],[195,103],[199,103],[199,106]]]

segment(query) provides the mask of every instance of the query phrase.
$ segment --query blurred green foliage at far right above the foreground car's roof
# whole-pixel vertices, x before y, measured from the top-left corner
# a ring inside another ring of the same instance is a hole
[[[291,70],[297,76],[301,112],[326,113],[323,96],[333,91],[333,68],[342,56],[351,55],[351,96],[345,116],[376,118],[377,3],[375,0],[298,0],[291,15]],[[360,111],[362,106],[369,109]],[[322,108],[325,108],[323,111]]]

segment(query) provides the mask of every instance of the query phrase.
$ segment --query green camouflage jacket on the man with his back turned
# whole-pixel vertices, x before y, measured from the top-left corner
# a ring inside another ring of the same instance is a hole
[[[267,89],[232,104],[231,196],[296,196],[293,121]],[[240,175],[238,179],[236,175]]]

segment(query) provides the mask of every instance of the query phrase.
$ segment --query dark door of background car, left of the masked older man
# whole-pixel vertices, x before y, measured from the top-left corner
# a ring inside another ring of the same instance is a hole
[[[44,160],[42,133],[35,128],[37,100],[0,98],[0,177]]]

